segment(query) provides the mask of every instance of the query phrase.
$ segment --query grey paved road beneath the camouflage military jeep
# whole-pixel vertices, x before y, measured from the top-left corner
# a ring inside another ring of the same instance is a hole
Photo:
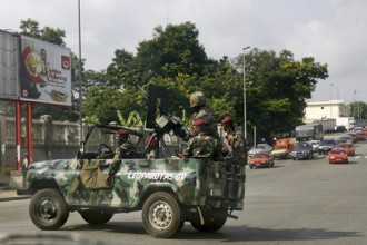
[[[246,204],[215,234],[186,224],[173,239],[147,235],[140,213],[119,214],[103,226],[87,225],[72,213],[58,232],[106,244],[367,244],[367,144],[356,146],[348,165],[313,160],[276,160],[274,168],[247,169]],[[2,233],[33,233],[29,200],[0,203]]]

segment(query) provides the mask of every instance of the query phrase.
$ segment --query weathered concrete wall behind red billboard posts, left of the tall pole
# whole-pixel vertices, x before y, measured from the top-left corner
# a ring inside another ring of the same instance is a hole
[[[33,161],[72,158],[79,149],[79,125],[52,121],[48,115],[32,120]],[[27,153],[26,121],[21,121],[21,159]],[[16,120],[0,111],[0,174],[17,169]]]

